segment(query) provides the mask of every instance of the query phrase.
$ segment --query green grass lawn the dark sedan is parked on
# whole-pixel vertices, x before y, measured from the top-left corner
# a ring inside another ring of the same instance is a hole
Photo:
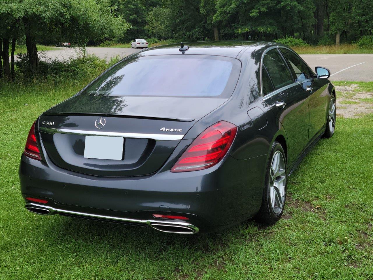
[[[29,127],[87,82],[0,84],[0,279],[373,278],[373,115],[337,119],[289,177],[272,227],[188,236],[27,212],[18,164]]]

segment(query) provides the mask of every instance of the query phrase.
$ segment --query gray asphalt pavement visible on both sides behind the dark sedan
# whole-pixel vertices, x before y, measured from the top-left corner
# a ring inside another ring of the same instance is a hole
[[[140,49],[141,50],[141,49]],[[76,56],[77,49],[56,48],[44,52],[47,57],[68,59]],[[88,53],[109,59],[119,55],[125,57],[139,50],[131,48],[100,48],[87,47]],[[373,81],[373,54],[357,55],[301,55],[312,69],[315,66],[324,66],[330,70],[332,81]]]

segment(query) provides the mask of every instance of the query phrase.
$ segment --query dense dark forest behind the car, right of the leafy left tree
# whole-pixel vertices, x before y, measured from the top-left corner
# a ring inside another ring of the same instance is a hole
[[[117,40],[178,38],[339,44],[372,35],[372,0],[112,0],[132,25]]]

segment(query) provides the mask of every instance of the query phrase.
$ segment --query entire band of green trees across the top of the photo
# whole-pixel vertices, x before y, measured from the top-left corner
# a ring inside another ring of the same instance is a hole
[[[372,30],[373,0],[0,0],[0,77],[14,77],[16,45],[36,71],[37,44],[294,38],[373,47]]]

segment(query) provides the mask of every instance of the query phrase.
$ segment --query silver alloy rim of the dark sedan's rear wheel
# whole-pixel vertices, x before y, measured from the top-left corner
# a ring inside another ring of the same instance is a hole
[[[280,151],[272,157],[269,174],[269,196],[273,212],[279,214],[285,202],[286,169],[285,160]]]

